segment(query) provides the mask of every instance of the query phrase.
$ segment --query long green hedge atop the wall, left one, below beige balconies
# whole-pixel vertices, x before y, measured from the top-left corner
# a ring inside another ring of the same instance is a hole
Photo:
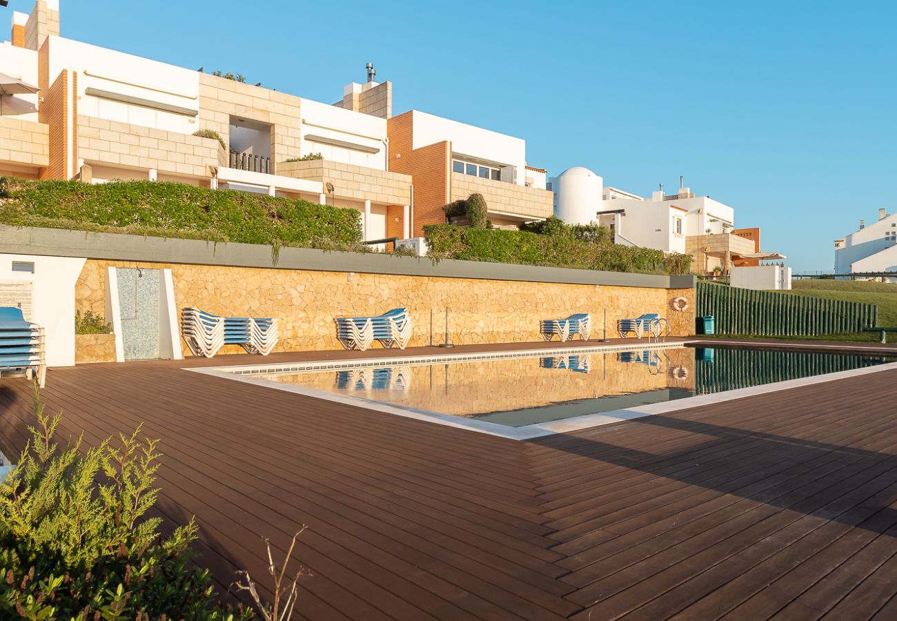
[[[0,223],[310,248],[361,242],[354,209],[167,181],[0,178]]]

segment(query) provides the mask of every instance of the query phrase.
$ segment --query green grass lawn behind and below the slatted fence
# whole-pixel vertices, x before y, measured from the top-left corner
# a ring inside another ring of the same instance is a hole
[[[897,284],[867,283],[860,280],[795,280],[791,295],[809,295],[814,298],[864,302],[878,305],[878,325],[897,328]],[[787,292],[783,292],[787,293]],[[750,337],[747,337],[750,338]],[[799,338],[807,341],[875,341],[878,332],[847,332],[825,334],[815,337],[762,337]],[[897,333],[889,334],[888,341],[897,343]]]

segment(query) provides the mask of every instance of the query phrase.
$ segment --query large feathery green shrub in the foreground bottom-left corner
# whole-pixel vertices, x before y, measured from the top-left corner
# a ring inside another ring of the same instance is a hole
[[[0,484],[0,609],[3,618],[231,619],[209,572],[194,564],[196,524],[159,532],[147,517],[160,454],[137,431],[96,448],[59,449],[60,415],[44,415],[13,474]]]

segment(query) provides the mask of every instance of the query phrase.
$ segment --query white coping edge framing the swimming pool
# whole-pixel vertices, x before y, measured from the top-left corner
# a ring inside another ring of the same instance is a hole
[[[364,409],[404,416],[405,418],[414,418],[416,420],[428,421],[430,423],[444,424],[450,427],[457,427],[475,431],[478,433],[487,433],[489,435],[499,436],[501,438],[509,438],[510,440],[531,440],[533,438],[541,438],[546,435],[554,435],[556,433],[569,433],[580,431],[582,429],[590,429],[605,424],[621,423],[623,421],[641,418],[643,416],[669,414],[678,410],[690,409],[692,407],[709,406],[715,403],[724,403],[739,398],[755,397],[757,395],[765,395],[779,390],[796,389],[804,386],[813,386],[814,384],[822,384],[828,381],[844,380],[853,377],[867,375],[869,373],[877,373],[884,371],[897,370],[897,363],[877,364],[871,367],[862,367],[860,369],[852,369],[850,371],[840,371],[833,373],[825,373],[823,375],[813,375],[798,380],[778,381],[771,384],[762,384],[745,389],[726,390],[711,395],[699,395],[696,397],[688,397],[666,401],[664,403],[652,403],[646,406],[627,407],[610,412],[601,412],[596,414],[587,414],[565,418],[559,421],[551,421],[547,423],[529,424],[521,427],[509,427],[503,424],[488,423],[471,418],[464,418],[458,415],[441,414],[439,412],[431,412],[429,410],[418,410],[405,407],[390,406],[387,403],[373,401],[366,398],[353,397],[340,393],[330,392],[327,390],[309,389],[300,386],[285,384],[281,381],[266,380],[259,375],[263,372],[312,372],[312,371],[328,371],[328,370],[344,370],[353,368],[373,367],[373,366],[394,366],[394,365],[419,365],[432,364],[441,362],[466,362],[469,360],[483,359],[501,359],[501,358],[525,358],[537,355],[577,355],[577,354],[602,354],[609,352],[630,352],[635,350],[644,351],[646,349],[672,349],[683,348],[688,343],[695,341],[678,341],[675,343],[651,343],[647,344],[626,344],[626,345],[586,345],[583,347],[553,347],[520,351],[505,352],[483,352],[476,354],[444,354],[444,355],[416,355],[416,356],[396,356],[384,358],[356,358],[352,360],[342,361],[313,361],[309,363],[281,363],[281,364],[250,364],[250,365],[233,365],[220,367],[194,367],[186,368],[184,371],[203,373],[214,377],[221,377],[228,380],[243,381],[248,384],[257,386],[265,386],[271,389],[283,390],[305,397],[321,398],[335,403],[342,403],[347,406],[362,407]],[[707,341],[704,341],[707,343]],[[728,343],[733,343],[729,341]],[[753,345],[747,341],[738,345]],[[766,344],[763,344],[766,345]],[[788,345],[790,347],[791,345]],[[874,349],[874,348],[867,348]],[[878,350],[880,351],[880,350]],[[882,352],[882,355],[887,355]],[[893,354],[892,354],[893,355]]]

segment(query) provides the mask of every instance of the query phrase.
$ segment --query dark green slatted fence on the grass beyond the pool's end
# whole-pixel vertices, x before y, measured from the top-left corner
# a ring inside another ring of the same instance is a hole
[[[877,325],[875,304],[811,298],[724,284],[697,285],[697,315],[713,315],[717,334],[803,337],[859,332]]]

